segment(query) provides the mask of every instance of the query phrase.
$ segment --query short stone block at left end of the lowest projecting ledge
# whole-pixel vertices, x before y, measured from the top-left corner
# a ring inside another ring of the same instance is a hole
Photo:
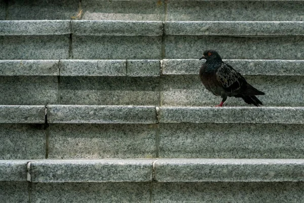
[[[0,181],[26,181],[26,160],[0,160]]]

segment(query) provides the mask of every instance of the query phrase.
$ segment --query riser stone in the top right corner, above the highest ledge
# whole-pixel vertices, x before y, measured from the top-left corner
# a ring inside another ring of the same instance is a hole
[[[303,21],[303,7],[302,1],[170,1],[167,20]]]

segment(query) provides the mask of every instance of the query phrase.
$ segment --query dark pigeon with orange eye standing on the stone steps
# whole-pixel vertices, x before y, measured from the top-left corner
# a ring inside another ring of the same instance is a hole
[[[216,107],[222,107],[227,96],[241,97],[245,103],[253,104],[256,107],[263,105],[255,95],[264,95],[265,93],[248,84],[245,78],[231,65],[222,61],[216,51],[204,51],[201,59],[206,59],[200,69],[203,85],[214,95],[222,97],[221,103]]]

